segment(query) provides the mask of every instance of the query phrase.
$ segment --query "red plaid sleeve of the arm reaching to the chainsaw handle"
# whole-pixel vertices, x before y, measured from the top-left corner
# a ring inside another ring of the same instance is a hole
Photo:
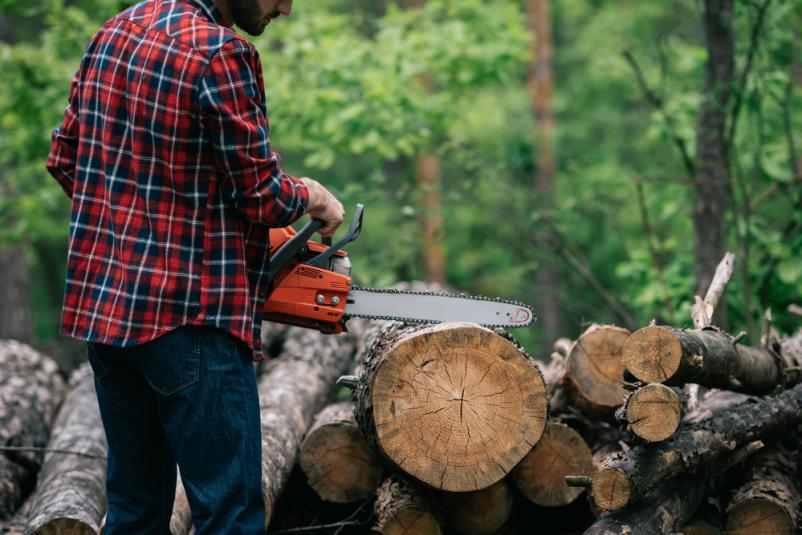
[[[261,66],[248,44],[228,41],[210,60],[200,107],[225,176],[221,191],[249,220],[285,227],[306,211],[309,192],[270,149]]]

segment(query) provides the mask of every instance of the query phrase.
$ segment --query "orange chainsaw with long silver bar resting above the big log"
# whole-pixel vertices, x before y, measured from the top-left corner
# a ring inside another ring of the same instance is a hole
[[[467,294],[448,294],[393,288],[364,288],[351,284],[351,262],[342,248],[362,231],[364,206],[357,204],[346,234],[335,244],[309,240],[323,226],[312,219],[300,231],[270,229],[270,294],[263,318],[317,329],[326,334],[346,331],[350,318],[409,323],[468,321],[486,327],[526,327],[532,310],[516,301]]]

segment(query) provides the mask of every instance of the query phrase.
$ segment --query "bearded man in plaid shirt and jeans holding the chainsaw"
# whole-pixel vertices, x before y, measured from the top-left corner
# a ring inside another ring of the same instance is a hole
[[[268,229],[337,199],[270,150],[260,34],[292,0],[146,0],[75,75],[47,167],[72,198],[61,332],[87,341],[108,439],[105,533],[264,532],[259,400]],[[285,73],[286,75],[286,73]]]

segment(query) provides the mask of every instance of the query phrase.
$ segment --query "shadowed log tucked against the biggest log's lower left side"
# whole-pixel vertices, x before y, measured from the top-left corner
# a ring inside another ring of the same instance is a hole
[[[382,464],[359,433],[350,401],[318,413],[298,460],[309,486],[330,502],[364,500],[382,482]]]

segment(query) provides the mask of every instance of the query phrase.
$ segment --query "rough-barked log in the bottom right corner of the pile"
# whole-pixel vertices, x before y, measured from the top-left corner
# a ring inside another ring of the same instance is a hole
[[[798,450],[776,443],[755,455],[727,506],[728,534],[795,532],[800,503],[798,457]]]

